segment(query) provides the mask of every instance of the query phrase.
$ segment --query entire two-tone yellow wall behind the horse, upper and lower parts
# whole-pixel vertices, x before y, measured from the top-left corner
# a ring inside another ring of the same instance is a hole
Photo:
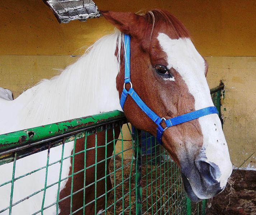
[[[256,151],[256,0],[95,2],[103,10],[163,8],[176,15],[209,62],[209,86],[220,79],[226,85],[222,113],[234,166]],[[0,12],[0,86],[12,90],[14,97],[57,75],[53,68],[65,68],[76,59],[70,54],[82,54],[113,30],[103,17],[59,24],[42,0],[5,1]],[[255,156],[247,166],[256,168]]]

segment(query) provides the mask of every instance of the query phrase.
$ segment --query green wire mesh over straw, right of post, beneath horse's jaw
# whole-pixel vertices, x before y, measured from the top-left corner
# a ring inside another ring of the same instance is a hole
[[[146,133],[150,154],[142,157],[142,214],[186,214],[186,195],[180,169],[161,145]],[[152,143],[153,142],[153,143]],[[145,144],[148,151],[148,144]]]

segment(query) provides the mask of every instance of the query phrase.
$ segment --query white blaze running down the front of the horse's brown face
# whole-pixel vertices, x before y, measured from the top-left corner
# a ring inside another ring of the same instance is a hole
[[[168,56],[168,68],[173,67],[185,81],[188,90],[195,99],[195,110],[213,106],[210,90],[205,78],[203,57],[196,51],[189,38],[171,39],[159,33],[158,40]],[[217,180],[223,187],[232,172],[227,142],[217,114],[199,118],[204,137],[203,148],[207,161],[218,165],[221,175]]]

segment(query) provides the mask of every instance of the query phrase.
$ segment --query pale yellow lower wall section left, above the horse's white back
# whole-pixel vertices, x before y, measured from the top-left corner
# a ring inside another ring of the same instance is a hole
[[[43,78],[60,74],[78,57],[0,55],[0,86],[10,89],[14,98],[36,85]]]

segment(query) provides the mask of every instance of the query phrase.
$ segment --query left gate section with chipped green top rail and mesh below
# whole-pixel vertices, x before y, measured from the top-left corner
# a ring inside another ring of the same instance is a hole
[[[116,172],[125,166],[111,172],[106,167],[111,160],[115,164],[116,156],[133,149],[115,153],[119,133],[122,145],[126,141],[121,131],[124,123],[124,115],[113,111],[0,135],[0,169],[4,172],[0,178],[0,213],[58,214],[63,206],[65,214],[115,210],[115,204],[104,203],[111,192],[116,192]],[[132,167],[132,162],[128,165]],[[114,179],[112,189],[110,175]],[[131,178],[129,175],[128,180]],[[18,195],[18,191],[24,194]]]

